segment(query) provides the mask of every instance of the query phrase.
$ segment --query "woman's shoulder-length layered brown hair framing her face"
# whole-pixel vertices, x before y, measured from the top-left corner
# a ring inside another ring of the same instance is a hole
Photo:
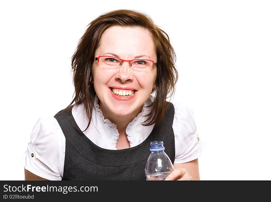
[[[83,103],[89,118],[87,128],[89,127],[96,95],[94,85],[90,81],[92,78],[94,53],[99,46],[103,32],[114,25],[141,26],[152,33],[157,56],[156,89],[152,89],[152,93],[155,92],[156,96],[153,103],[149,105],[152,106],[152,110],[146,115],[148,118],[144,122],[145,124],[142,123],[142,125],[158,124],[164,118],[165,111],[168,108],[169,103],[166,102],[166,98],[172,97],[175,93],[175,85],[178,80],[178,72],[175,68],[176,54],[169,42],[168,34],[156,26],[148,15],[135,10],[107,12],[94,19],[88,25],[72,56],[71,66],[75,97],[67,108],[71,109],[74,102],[75,104]],[[170,96],[168,96],[169,93]]]

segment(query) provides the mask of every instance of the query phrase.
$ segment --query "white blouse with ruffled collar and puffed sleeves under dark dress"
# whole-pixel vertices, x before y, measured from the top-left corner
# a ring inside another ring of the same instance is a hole
[[[141,113],[127,125],[126,134],[130,147],[142,143],[152,132],[154,124],[143,126],[146,106],[153,101],[153,97],[144,103]],[[114,123],[104,119],[99,109],[98,97],[95,97],[91,123],[83,133],[96,145],[104,149],[116,149],[119,138],[118,129]],[[175,137],[175,164],[185,163],[197,159],[201,154],[202,144],[197,134],[192,111],[181,102],[174,104],[173,132]],[[84,105],[75,105],[72,115],[79,128],[86,129],[88,120]],[[65,158],[65,136],[54,116],[42,116],[34,126],[30,142],[21,162],[24,168],[37,176],[48,180],[62,180]],[[167,148],[165,148],[165,152]],[[34,154],[34,155],[33,155]]]

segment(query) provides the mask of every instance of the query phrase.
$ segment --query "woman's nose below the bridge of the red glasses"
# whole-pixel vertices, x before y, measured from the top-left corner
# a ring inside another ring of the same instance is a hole
[[[125,83],[133,80],[132,69],[129,61],[123,61],[120,67],[118,68],[118,72],[116,73],[116,80]]]

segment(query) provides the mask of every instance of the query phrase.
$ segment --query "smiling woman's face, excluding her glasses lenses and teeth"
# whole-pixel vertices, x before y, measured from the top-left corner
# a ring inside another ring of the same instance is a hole
[[[152,35],[139,26],[111,26],[105,30],[100,39],[100,45],[95,51],[95,57],[102,55],[117,57],[111,53],[123,60],[148,59],[157,62]],[[144,56],[136,58],[140,55]],[[152,69],[136,71],[131,69],[129,62],[123,61],[119,68],[108,69],[100,62],[94,61],[92,73],[100,108],[103,113],[107,112],[111,115],[137,116],[152,89],[156,87],[156,66]],[[124,89],[126,92],[136,90],[136,93],[131,97],[120,98],[111,92],[113,88],[118,91]]]

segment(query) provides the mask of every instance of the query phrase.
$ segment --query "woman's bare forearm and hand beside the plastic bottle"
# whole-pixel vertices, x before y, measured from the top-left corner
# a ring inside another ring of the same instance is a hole
[[[198,159],[182,164],[173,164],[173,166],[174,170],[166,180],[200,180]]]

